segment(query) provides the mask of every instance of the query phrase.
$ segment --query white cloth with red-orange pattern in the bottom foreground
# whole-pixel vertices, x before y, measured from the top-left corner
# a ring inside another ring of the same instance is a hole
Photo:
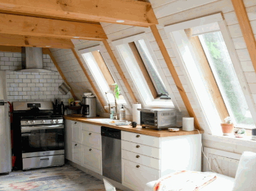
[[[183,170],[160,178],[154,191],[197,191],[216,178],[216,174]]]

